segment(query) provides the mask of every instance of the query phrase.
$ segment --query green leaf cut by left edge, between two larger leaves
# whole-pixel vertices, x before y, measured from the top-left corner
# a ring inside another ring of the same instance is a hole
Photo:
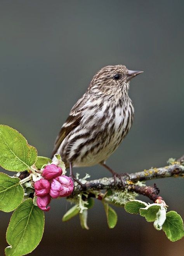
[[[23,201],[24,189],[20,179],[0,173],[0,210],[11,212]]]

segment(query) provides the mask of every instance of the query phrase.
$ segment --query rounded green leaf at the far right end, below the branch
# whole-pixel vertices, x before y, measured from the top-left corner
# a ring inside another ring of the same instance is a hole
[[[175,242],[184,237],[184,228],[182,218],[177,212],[170,211],[166,214],[166,220],[162,226],[168,239]]]

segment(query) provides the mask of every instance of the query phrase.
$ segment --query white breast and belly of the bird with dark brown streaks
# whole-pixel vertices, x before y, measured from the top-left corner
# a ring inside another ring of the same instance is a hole
[[[76,127],[62,143],[62,152],[73,166],[92,166],[108,157],[120,145],[130,130],[134,108],[130,101],[125,107],[93,108],[83,115]]]

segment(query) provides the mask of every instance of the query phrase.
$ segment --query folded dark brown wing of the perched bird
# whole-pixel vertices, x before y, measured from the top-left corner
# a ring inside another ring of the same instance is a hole
[[[66,119],[66,122],[62,125],[61,131],[59,132],[56,138],[56,141],[54,143],[54,150],[52,151],[52,157],[54,156],[54,154],[56,154],[64,138],[66,138],[66,136],[79,125],[80,120],[83,117],[82,110],[85,102],[86,102],[85,97],[82,97],[76,102],[76,104],[71,109],[69,113],[69,117]]]

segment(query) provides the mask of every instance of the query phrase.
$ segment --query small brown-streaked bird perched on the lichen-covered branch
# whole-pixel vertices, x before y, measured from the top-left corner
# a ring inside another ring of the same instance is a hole
[[[106,66],[98,71],[85,94],[76,102],[56,138],[54,154],[60,154],[70,167],[102,164],[127,135],[134,119],[128,97],[130,79],[143,71],[124,65]]]

